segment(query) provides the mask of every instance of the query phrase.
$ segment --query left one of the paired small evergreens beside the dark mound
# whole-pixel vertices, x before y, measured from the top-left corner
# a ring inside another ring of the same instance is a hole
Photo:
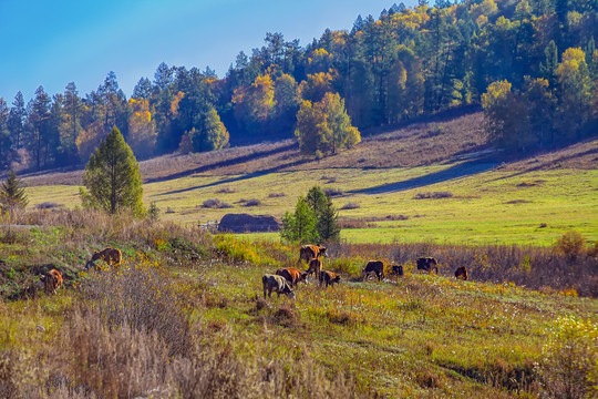
[[[317,243],[320,237],[316,228],[317,217],[303,196],[300,196],[295,206],[295,213],[287,211],[282,217],[280,236],[288,242]]]

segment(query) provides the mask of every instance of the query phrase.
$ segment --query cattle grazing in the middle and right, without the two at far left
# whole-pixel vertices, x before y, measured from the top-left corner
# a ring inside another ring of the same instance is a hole
[[[326,284],[326,287],[333,286],[334,283],[340,283],[340,276],[337,273],[322,270],[321,257],[326,254],[326,247],[322,245],[303,245],[299,249],[299,260],[306,260],[309,265],[308,269],[301,272],[295,267],[286,267],[276,270],[274,275],[266,274],[261,277],[261,285],[264,288],[264,298],[272,296],[274,293],[287,295],[295,299],[293,288],[297,288],[297,284],[300,282],[307,282],[307,277],[311,274],[316,275],[316,278],[320,280],[320,286]],[[433,257],[421,257],[417,259],[417,270],[426,273],[439,274],[439,262]],[[381,282],[385,275],[385,263],[383,260],[369,260],[365,267],[361,270],[361,277],[365,278],[370,274],[375,274],[378,280]],[[396,278],[404,275],[403,266],[390,265],[389,273],[396,276]],[[455,270],[455,277],[466,280],[468,278],[467,268],[461,266]]]

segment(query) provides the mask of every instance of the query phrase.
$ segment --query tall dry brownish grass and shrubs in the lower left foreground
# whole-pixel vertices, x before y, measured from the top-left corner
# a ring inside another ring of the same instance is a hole
[[[188,282],[187,282],[188,283]],[[324,370],[280,337],[192,321],[185,282],[144,258],[84,277],[51,339],[0,337],[7,398],[357,398],[342,369]],[[0,304],[1,306],[1,304]],[[12,315],[16,316],[16,315]],[[49,332],[48,332],[49,334]],[[32,345],[35,341],[37,345]],[[4,349],[4,345],[9,349]]]

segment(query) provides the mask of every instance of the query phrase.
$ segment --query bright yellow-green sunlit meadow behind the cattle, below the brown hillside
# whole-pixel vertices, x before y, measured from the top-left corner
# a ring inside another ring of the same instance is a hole
[[[312,168],[250,175],[196,174],[144,185],[146,204],[156,202],[162,217],[184,225],[219,221],[226,213],[282,216],[299,195],[319,185],[341,191],[333,202],[342,218],[371,219],[367,228],[344,229],[351,243],[433,241],[451,244],[551,245],[569,229],[598,239],[598,171],[486,171],[467,174],[451,163],[396,168]],[[455,170],[454,176],[452,172]],[[475,171],[474,171],[475,172]],[[32,205],[55,202],[76,206],[76,186],[28,188]],[[420,193],[452,197],[416,200]],[[217,198],[228,208],[206,208]],[[259,206],[245,206],[258,200]],[[342,209],[347,204],[354,209]],[[405,219],[396,219],[398,216]],[[385,219],[389,217],[389,219]],[[277,234],[248,238],[278,239]]]

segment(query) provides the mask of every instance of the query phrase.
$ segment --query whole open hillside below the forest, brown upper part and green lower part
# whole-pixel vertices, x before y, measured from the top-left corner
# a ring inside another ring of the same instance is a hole
[[[598,239],[598,141],[497,165],[496,156],[481,157],[481,123],[480,113],[416,123],[364,137],[355,150],[320,162],[301,157],[290,141],[168,155],[142,163],[144,198],[173,211],[164,214],[166,219],[202,224],[226,213],[281,216],[318,184],[343,192],[334,198],[339,208],[359,205],[340,209],[343,218],[408,217],[343,231],[343,238],[354,243],[425,239],[545,246],[568,229],[590,242]],[[434,126],[443,126],[444,133],[431,136]],[[80,176],[71,172],[28,177],[31,203],[76,205]],[[414,200],[426,192],[450,192],[453,197]],[[203,207],[209,198],[233,207]],[[244,206],[243,200],[250,198],[261,205]]]

